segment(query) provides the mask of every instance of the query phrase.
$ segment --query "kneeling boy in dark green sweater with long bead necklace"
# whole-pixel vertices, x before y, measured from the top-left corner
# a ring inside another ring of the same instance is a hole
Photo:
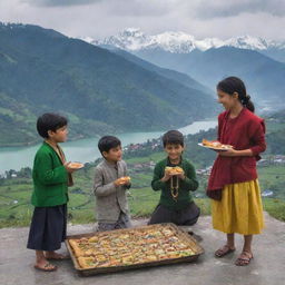
[[[148,224],[174,223],[194,225],[200,214],[190,195],[198,188],[194,166],[183,158],[184,137],[178,130],[163,136],[167,158],[154,170],[151,187],[161,190],[160,200]]]

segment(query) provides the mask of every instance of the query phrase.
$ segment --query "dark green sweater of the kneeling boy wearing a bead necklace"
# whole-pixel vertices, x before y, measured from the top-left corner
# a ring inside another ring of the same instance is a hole
[[[179,195],[177,200],[175,200],[170,191],[170,180],[166,183],[160,180],[164,177],[166,166],[169,166],[168,158],[157,163],[151,181],[151,187],[155,191],[161,190],[159,204],[171,210],[186,208],[193,202],[189,191],[195,191],[199,186],[196,179],[195,168],[189,161],[181,159],[178,166],[184,169],[186,178],[185,180],[179,179]]]

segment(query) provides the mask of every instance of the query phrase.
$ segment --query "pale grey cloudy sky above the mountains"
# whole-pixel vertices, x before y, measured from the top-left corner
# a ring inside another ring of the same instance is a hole
[[[252,35],[285,40],[285,0],[0,0],[0,21],[101,39],[125,28],[197,39]]]

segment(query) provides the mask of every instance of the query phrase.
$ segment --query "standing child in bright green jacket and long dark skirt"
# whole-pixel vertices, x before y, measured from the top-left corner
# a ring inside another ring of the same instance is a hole
[[[27,247],[36,249],[35,268],[51,272],[57,266],[48,259],[63,259],[56,253],[66,238],[68,186],[71,173],[58,142],[67,139],[67,119],[56,114],[38,118],[37,129],[43,144],[38,149],[32,168],[35,206]],[[46,253],[45,253],[46,252]]]

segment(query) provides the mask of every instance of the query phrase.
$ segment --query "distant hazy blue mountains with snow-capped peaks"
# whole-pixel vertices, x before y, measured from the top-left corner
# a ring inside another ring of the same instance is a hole
[[[100,41],[86,40],[111,50],[122,49],[161,68],[186,73],[213,94],[223,78],[240,77],[262,110],[285,108],[285,63],[282,62],[285,41],[249,36],[224,41],[216,38],[196,40],[183,32],[147,36],[138,29],[126,29]]]

